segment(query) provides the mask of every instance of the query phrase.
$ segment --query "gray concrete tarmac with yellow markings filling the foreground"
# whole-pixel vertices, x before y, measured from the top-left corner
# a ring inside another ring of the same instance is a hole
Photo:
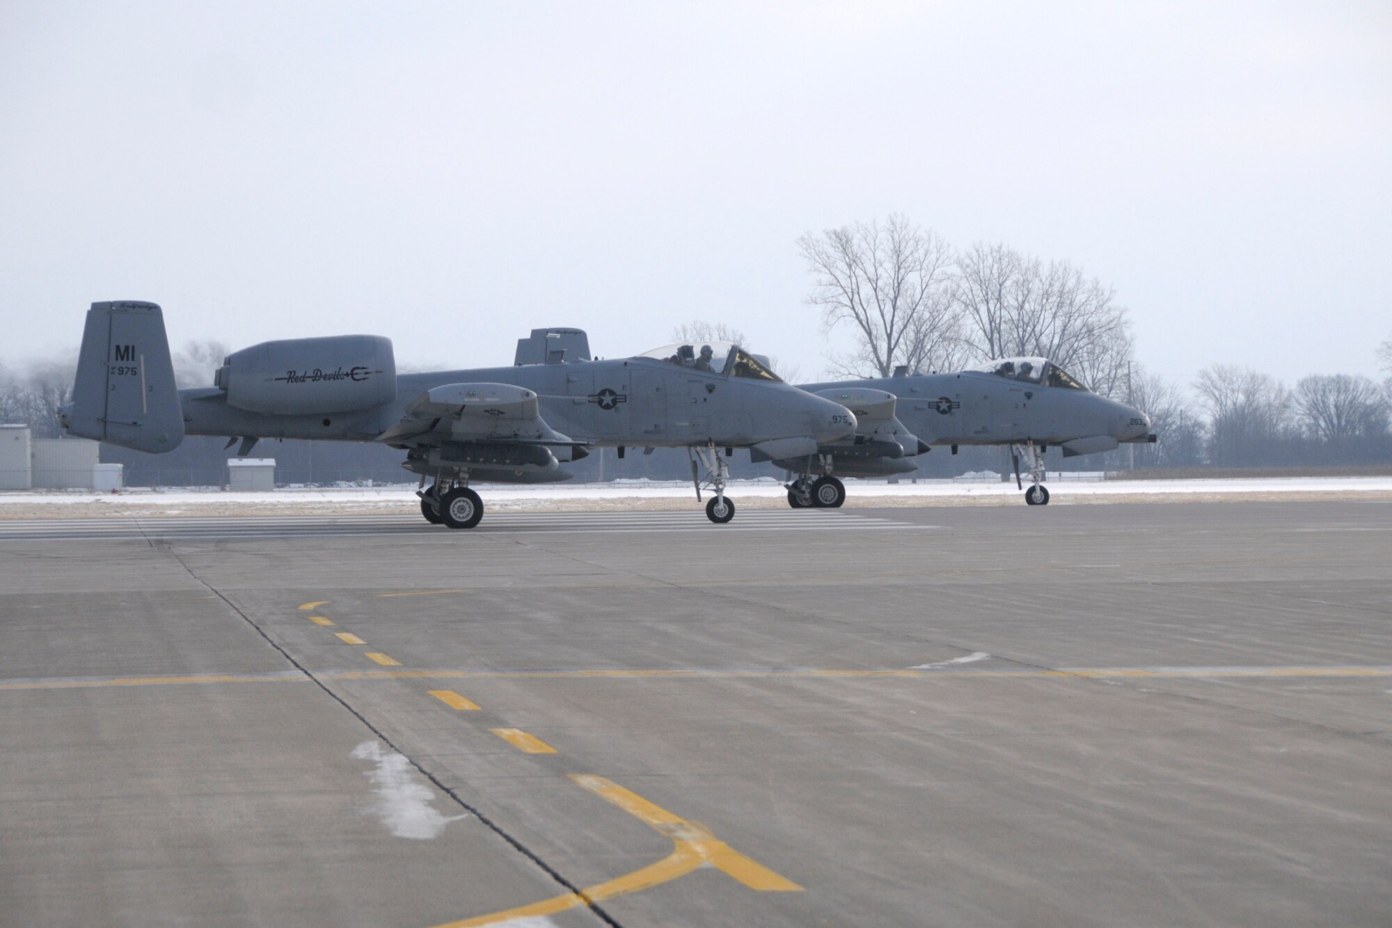
[[[671,516],[0,531],[0,924],[1392,921],[1392,503]]]

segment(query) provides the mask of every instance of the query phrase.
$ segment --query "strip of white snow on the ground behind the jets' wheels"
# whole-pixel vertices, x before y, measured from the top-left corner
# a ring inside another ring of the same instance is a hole
[[[1102,481],[1100,474],[1050,479],[1051,503],[1180,502],[1218,499],[1368,499],[1392,500],[1392,477],[1297,477],[1263,479]],[[476,484],[493,511],[667,510],[696,504],[690,484],[621,481],[587,485]],[[786,490],[777,479],[735,481],[729,496],[745,509],[781,509]],[[846,481],[846,506],[1004,506],[1020,504],[1015,482],[998,481]],[[413,485],[287,488],[270,493],[219,488],[0,492],[0,518],[93,516],[266,516],[411,513],[419,506]]]

